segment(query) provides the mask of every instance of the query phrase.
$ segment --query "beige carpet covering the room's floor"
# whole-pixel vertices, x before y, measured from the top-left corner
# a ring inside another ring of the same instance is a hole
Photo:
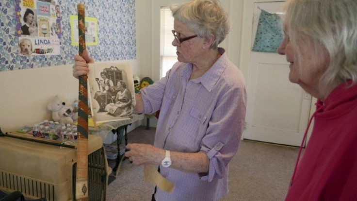
[[[128,134],[128,141],[152,144],[154,134],[154,128],[141,126]],[[296,147],[242,140],[229,163],[229,193],[221,201],[283,201],[297,152]],[[106,200],[150,201],[153,189],[143,181],[143,167],[125,160]]]

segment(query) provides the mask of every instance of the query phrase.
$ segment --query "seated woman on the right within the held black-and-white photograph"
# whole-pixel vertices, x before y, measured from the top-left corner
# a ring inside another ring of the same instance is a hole
[[[127,89],[127,84],[124,81],[119,82],[114,87],[116,93],[115,102],[111,102],[105,106],[105,111],[113,114],[115,117],[125,117],[132,114],[131,92]]]

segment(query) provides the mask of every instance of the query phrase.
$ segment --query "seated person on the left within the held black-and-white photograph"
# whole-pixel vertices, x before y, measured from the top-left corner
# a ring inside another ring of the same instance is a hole
[[[114,94],[114,83],[112,80],[108,79],[106,72],[100,72],[100,77],[96,78],[99,91],[94,94],[94,99],[98,102],[99,110],[97,112],[105,112],[104,108],[107,104],[112,102],[112,97],[115,97]]]

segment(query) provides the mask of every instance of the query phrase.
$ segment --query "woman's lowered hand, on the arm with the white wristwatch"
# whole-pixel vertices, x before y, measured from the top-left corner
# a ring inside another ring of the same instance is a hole
[[[129,151],[125,152],[125,156],[128,157],[134,165],[158,165],[165,156],[164,150],[149,144],[128,144],[126,149]]]

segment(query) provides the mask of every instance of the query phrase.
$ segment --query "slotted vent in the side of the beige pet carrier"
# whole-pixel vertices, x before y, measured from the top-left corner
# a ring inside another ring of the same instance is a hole
[[[25,196],[46,198],[47,201],[54,201],[55,189],[52,184],[14,175],[6,171],[0,171],[0,187],[8,191],[20,191]]]

